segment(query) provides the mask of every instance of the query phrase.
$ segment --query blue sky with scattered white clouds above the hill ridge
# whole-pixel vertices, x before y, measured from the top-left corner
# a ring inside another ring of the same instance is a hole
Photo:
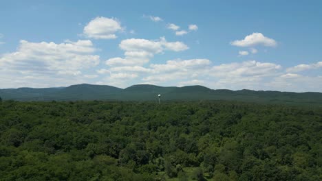
[[[322,92],[321,1],[1,1],[0,88]]]

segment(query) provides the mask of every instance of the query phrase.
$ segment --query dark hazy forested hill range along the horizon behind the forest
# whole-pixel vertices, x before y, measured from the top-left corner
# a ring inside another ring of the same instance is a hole
[[[169,100],[236,100],[264,103],[316,104],[322,102],[322,93],[290,93],[255,90],[213,90],[204,86],[162,87],[148,84],[128,88],[114,86],[78,84],[59,88],[7,88],[0,89],[4,100],[17,101],[155,101],[161,94],[163,101]]]

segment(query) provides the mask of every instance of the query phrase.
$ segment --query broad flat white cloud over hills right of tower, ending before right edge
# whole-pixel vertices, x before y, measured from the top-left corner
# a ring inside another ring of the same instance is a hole
[[[233,62],[213,66],[208,59],[169,60],[151,64],[143,82],[153,84],[202,84],[211,88],[260,89],[264,80],[281,75],[281,66],[269,62]],[[198,82],[197,82],[198,80]]]

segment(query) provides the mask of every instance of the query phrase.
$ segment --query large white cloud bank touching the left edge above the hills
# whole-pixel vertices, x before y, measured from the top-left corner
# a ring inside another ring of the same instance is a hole
[[[60,44],[21,40],[17,51],[0,57],[1,86],[27,83],[25,86],[61,86],[81,82],[82,70],[100,62],[100,56],[93,54],[95,51],[90,40],[66,40]]]

